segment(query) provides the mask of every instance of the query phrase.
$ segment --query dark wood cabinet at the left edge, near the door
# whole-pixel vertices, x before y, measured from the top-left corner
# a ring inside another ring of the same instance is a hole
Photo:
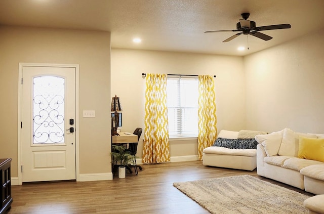
[[[11,175],[10,163],[11,158],[0,159],[0,176],[1,176],[1,201],[0,214],[6,213],[11,207]]]

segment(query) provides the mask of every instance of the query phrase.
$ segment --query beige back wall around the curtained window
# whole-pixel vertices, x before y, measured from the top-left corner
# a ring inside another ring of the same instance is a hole
[[[144,128],[145,78],[141,73],[208,74],[215,78],[218,130],[245,126],[245,76],[242,57],[112,49],[111,97],[120,97],[121,131]],[[142,157],[143,135],[138,145]],[[171,141],[171,156],[197,155],[197,141]]]

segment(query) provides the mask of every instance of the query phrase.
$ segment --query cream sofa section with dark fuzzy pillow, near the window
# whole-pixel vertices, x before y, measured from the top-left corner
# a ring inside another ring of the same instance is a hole
[[[265,132],[222,130],[214,146],[203,150],[203,164],[224,168],[254,170],[257,167],[257,134]],[[226,148],[227,147],[227,148]]]

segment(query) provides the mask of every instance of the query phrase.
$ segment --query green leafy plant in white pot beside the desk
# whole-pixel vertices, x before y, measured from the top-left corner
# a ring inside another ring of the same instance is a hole
[[[125,146],[121,145],[112,145],[111,152],[113,161],[118,165],[118,178],[126,177],[126,166],[133,161],[133,156],[131,155],[130,150],[128,150]]]

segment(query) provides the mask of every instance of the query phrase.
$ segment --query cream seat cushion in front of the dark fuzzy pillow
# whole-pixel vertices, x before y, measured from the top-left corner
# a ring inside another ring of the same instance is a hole
[[[221,155],[238,155],[238,156],[249,156],[254,157],[257,155],[256,149],[229,149],[218,146],[210,146],[203,150],[204,153],[208,154],[221,154]]]

